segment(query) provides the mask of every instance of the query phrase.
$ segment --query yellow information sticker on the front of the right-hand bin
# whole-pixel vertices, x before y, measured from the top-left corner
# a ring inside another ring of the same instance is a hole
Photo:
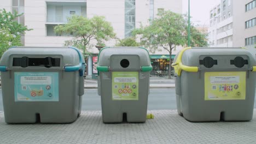
[[[205,100],[246,98],[246,71],[206,72]]]

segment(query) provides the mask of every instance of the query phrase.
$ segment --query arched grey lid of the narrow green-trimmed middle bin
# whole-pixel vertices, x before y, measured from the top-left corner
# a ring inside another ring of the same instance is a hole
[[[110,66],[110,57],[114,55],[136,55],[139,57],[138,64],[151,66],[149,52],[144,47],[104,47],[98,54],[97,64],[100,66]]]

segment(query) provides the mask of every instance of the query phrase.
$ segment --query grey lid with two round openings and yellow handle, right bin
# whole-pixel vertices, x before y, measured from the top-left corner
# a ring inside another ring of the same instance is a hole
[[[187,47],[174,58],[172,67],[180,75],[182,70],[197,72],[202,69],[252,69],[256,61],[243,47]]]

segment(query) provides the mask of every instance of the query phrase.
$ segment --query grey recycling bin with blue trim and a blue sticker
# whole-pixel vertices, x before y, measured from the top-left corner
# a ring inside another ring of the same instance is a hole
[[[81,112],[83,55],[75,47],[11,47],[0,61],[7,123],[71,123]]]

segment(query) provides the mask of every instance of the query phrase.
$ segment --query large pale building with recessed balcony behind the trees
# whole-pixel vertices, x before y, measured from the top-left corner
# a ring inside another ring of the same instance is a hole
[[[54,33],[54,26],[65,24],[67,17],[83,15],[93,17],[105,16],[117,37],[123,39],[131,35],[134,28],[149,25],[148,20],[161,10],[171,10],[182,14],[182,1],[176,0],[4,0],[0,9],[18,11],[24,16],[18,21],[32,31],[22,35],[25,46],[63,46],[64,41],[72,37],[60,36]],[[115,41],[108,41],[107,46],[113,46]],[[90,50],[98,53],[96,47]],[[165,50],[159,55],[168,55]],[[92,75],[92,57],[88,57],[88,75]]]

